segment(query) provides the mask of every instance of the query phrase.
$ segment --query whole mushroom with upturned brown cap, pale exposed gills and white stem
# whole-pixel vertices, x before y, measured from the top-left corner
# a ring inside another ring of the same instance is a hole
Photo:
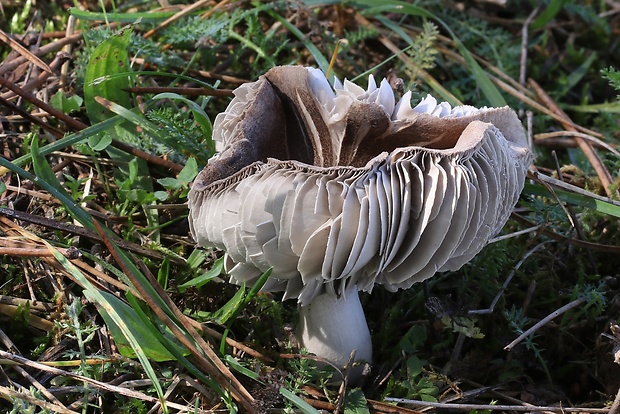
[[[234,92],[215,119],[219,153],[189,193],[191,234],[225,251],[235,283],[300,308],[297,336],[343,367],[371,361],[358,291],[409,288],[456,270],[498,233],[532,160],[513,110],[430,95],[411,107],[373,77],[329,85],[280,66]]]

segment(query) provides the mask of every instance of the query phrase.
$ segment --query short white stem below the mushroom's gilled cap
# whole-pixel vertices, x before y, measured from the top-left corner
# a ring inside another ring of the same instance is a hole
[[[356,288],[339,298],[324,293],[300,307],[297,339],[308,352],[344,367],[355,349],[356,361],[370,362],[372,341]]]

